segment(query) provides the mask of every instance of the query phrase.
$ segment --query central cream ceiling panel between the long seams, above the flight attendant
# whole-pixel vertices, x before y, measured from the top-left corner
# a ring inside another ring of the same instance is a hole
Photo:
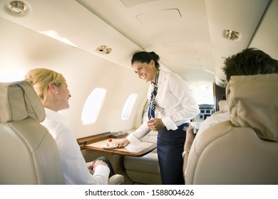
[[[205,1],[78,2],[185,80],[214,81]]]

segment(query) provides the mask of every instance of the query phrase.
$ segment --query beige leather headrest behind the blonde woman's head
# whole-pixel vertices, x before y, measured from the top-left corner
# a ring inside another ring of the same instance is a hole
[[[42,122],[46,117],[40,99],[29,82],[0,82],[0,122],[15,122],[28,117]]]

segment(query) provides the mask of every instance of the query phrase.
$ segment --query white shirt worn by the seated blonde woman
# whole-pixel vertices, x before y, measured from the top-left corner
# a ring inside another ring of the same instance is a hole
[[[45,110],[46,119],[41,124],[48,129],[56,141],[66,184],[107,185],[110,173],[108,166],[97,166],[95,173],[91,175],[76,138],[68,127],[68,119],[51,109],[45,108]]]

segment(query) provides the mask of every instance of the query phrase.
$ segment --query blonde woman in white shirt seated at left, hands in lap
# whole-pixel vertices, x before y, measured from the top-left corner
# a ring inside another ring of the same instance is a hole
[[[66,184],[108,184],[109,174],[113,175],[109,161],[103,158],[86,163],[76,138],[68,127],[68,120],[58,113],[68,109],[68,100],[71,98],[63,75],[53,70],[36,68],[30,70],[24,80],[33,85],[46,110],[46,119],[41,124],[56,141]]]

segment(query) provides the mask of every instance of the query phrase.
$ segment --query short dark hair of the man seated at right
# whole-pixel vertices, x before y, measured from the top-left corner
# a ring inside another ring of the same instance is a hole
[[[278,61],[257,48],[246,48],[224,61],[222,70],[227,81],[232,75],[259,75],[278,73]]]

